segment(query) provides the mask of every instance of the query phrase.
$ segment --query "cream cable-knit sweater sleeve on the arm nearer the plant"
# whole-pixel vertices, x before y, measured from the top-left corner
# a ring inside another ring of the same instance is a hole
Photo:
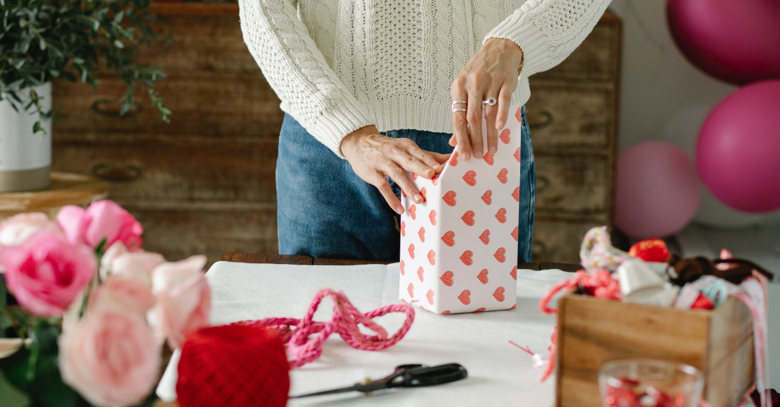
[[[239,0],[244,42],[289,113],[337,156],[350,132],[374,120],[328,66],[292,0]]]

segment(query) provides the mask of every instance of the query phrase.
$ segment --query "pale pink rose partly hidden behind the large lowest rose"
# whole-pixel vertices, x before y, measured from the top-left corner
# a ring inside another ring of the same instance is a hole
[[[87,313],[119,309],[145,316],[154,306],[151,286],[142,279],[109,275],[90,293]]]

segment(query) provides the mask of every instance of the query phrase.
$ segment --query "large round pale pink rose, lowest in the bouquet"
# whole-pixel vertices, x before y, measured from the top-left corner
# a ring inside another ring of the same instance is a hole
[[[93,405],[136,405],[158,381],[159,342],[135,313],[87,312],[60,336],[59,349],[62,381]]]

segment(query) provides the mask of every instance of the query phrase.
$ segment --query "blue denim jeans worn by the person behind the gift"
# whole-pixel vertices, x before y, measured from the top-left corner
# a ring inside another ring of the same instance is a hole
[[[528,122],[523,108],[520,157],[518,262],[530,261],[534,233],[536,174]],[[421,149],[452,153],[447,133],[420,130],[385,132],[406,137]],[[498,146],[501,148],[501,146]],[[398,185],[390,182],[395,195]],[[398,260],[398,215],[373,185],[358,177],[295,119],[285,114],[276,161],[279,254],[315,258]]]

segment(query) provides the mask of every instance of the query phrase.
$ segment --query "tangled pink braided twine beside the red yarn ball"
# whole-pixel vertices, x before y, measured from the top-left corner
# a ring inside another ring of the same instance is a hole
[[[328,322],[313,321],[314,312],[317,311],[324,296],[333,300],[333,318]],[[388,338],[385,328],[372,321],[374,318],[391,312],[406,314],[406,320],[395,335]],[[306,363],[317,360],[322,354],[322,343],[333,332],[338,333],[345,342],[355,349],[381,350],[387,349],[400,341],[414,321],[414,308],[405,303],[397,303],[380,307],[366,314],[357,311],[341,291],[332,289],[320,289],[311,301],[306,315],[301,319],[296,318],[265,318],[257,321],[239,321],[237,325],[253,325],[274,328],[282,335],[282,342],[287,343],[287,354],[290,367],[301,367]],[[371,329],[376,335],[364,335],[358,325],[362,324]],[[294,326],[295,329],[290,327]],[[310,338],[311,335],[319,334]]]

